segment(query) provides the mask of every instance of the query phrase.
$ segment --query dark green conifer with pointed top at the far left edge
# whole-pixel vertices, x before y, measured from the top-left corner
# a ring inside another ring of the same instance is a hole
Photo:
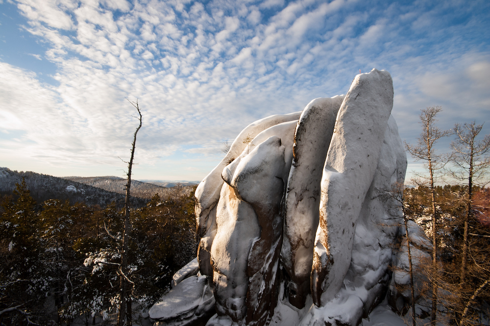
[[[0,217],[0,321],[20,325],[42,319],[51,279],[42,260],[36,202],[24,179],[14,195],[15,202],[2,203]]]

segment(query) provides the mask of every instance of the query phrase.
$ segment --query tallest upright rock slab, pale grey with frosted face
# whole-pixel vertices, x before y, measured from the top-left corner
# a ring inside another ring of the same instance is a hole
[[[337,115],[321,179],[319,226],[311,272],[313,301],[339,292],[352,256],[354,233],[393,106],[390,73],[357,75]]]

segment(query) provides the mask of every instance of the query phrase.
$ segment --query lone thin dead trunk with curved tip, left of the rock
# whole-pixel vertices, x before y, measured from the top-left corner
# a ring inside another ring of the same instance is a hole
[[[126,99],[127,100],[127,99]],[[128,100],[137,110],[139,114],[140,125],[136,128],[134,132],[134,138],[132,148],[131,148],[131,159],[128,163],[127,170],[127,184],[126,184],[126,199],[124,203],[124,233],[123,233],[123,249],[121,251],[121,266],[119,268],[120,280],[121,280],[121,295],[120,295],[120,306],[119,306],[119,314],[118,314],[118,326],[123,325],[132,325],[131,322],[131,295],[128,295],[129,286],[134,285],[134,283],[129,279],[128,268],[127,268],[127,256],[128,256],[128,244],[129,244],[129,232],[130,232],[130,221],[129,221],[129,199],[130,199],[130,190],[131,190],[131,169],[133,167],[133,159],[134,159],[134,149],[136,147],[136,134],[141,128],[142,125],[142,115],[140,111],[140,107],[138,105],[138,100],[136,102],[132,102]],[[127,321],[127,324],[126,324]]]

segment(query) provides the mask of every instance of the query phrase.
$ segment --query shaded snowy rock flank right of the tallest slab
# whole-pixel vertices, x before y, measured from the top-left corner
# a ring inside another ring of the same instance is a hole
[[[354,231],[350,265],[338,293],[313,306],[301,325],[358,325],[383,301],[390,280],[393,244],[402,223],[396,192],[402,188],[407,160],[392,117],[384,132],[375,174]]]

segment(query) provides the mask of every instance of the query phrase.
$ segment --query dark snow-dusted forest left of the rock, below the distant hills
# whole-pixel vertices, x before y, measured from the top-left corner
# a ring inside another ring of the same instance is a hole
[[[25,181],[13,195],[0,198],[0,325],[114,321],[123,211],[58,199],[40,206]],[[196,257],[194,206],[192,192],[177,200],[155,195],[131,210],[127,277],[135,325],[168,291],[173,273]]]

